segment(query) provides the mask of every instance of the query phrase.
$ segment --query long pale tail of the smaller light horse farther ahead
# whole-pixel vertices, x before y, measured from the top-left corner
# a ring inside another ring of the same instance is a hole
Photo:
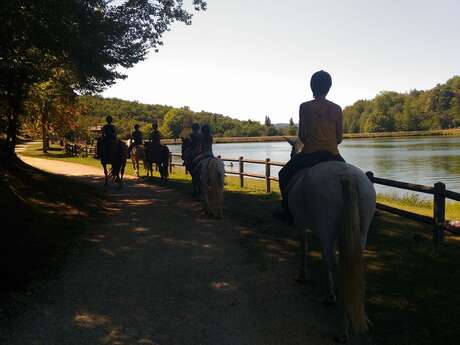
[[[210,159],[208,163],[208,200],[211,213],[222,217],[224,203],[225,169],[219,158]]]

